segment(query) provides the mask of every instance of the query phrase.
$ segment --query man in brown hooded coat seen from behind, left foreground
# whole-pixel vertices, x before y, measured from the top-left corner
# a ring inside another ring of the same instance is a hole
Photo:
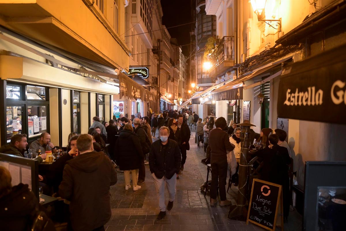
[[[71,202],[74,231],[102,231],[111,217],[109,188],[117,173],[103,152],[94,152],[91,135],[80,135],[77,148],[80,154],[66,162],[59,195]]]

